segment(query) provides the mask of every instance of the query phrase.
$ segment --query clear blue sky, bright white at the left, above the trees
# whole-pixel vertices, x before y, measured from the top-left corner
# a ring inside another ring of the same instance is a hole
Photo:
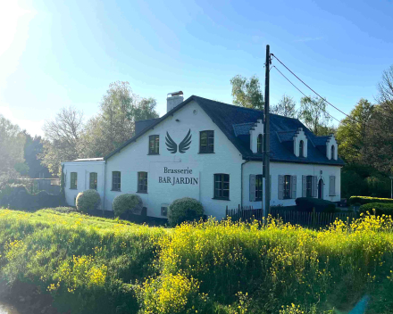
[[[44,121],[64,106],[95,115],[116,80],[154,97],[160,115],[176,90],[231,103],[233,76],[255,74],[263,87],[267,44],[350,112],[362,97],[373,101],[382,70],[393,64],[392,16],[391,0],[3,2],[0,113],[42,135]],[[271,103],[283,94],[299,103],[272,70]]]

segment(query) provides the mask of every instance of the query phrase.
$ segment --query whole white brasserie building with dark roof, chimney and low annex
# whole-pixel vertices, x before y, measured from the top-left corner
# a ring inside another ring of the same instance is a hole
[[[159,119],[138,121],[136,136],[104,158],[63,162],[66,201],[96,188],[106,211],[124,193],[139,194],[147,216],[164,218],[172,201],[188,196],[219,219],[238,205],[263,203],[263,112],[182,93],[167,99]],[[272,205],[301,196],[340,200],[333,135],[314,136],[297,119],[271,115]]]

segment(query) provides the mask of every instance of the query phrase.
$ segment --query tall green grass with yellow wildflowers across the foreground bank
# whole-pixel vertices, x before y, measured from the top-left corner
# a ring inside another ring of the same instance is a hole
[[[207,222],[173,229],[78,213],[0,211],[1,277],[71,313],[368,313],[393,308],[393,221],[313,231]]]

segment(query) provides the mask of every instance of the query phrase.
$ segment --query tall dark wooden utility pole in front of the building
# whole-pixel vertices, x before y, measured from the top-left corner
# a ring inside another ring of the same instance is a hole
[[[271,179],[270,179],[270,113],[269,113],[269,84],[270,84],[270,46],[266,45],[266,63],[264,77],[264,112],[263,112],[263,177],[264,177],[264,211],[263,216],[270,214]],[[262,204],[263,205],[263,204]]]

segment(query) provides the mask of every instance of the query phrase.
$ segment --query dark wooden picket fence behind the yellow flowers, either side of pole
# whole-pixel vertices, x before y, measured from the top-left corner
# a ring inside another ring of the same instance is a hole
[[[226,216],[232,220],[252,221],[263,219],[263,210],[254,209],[252,206],[238,206],[237,209],[226,209]],[[348,221],[349,223],[358,218],[355,212],[309,212],[297,211],[295,206],[292,206],[292,211],[285,210],[285,207],[273,208],[271,210],[273,218],[281,219],[284,223],[292,225],[300,225],[304,227],[326,227],[334,222],[336,219]]]

